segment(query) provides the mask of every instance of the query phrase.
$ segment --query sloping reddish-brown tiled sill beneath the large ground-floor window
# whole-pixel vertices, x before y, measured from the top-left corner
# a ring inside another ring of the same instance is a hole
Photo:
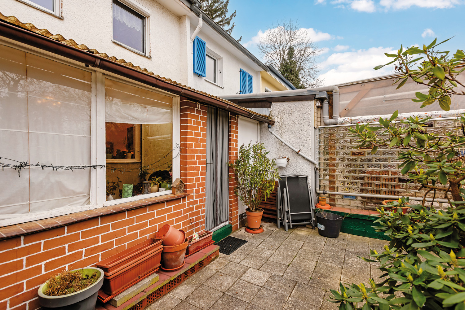
[[[171,201],[179,198],[189,196],[187,193],[182,194],[168,194],[163,196],[157,196],[152,198],[134,200],[124,204],[114,204],[107,207],[71,213],[62,215],[55,218],[44,218],[37,221],[26,222],[21,224],[15,224],[5,227],[0,227],[0,240],[20,235],[27,235],[38,231],[45,231],[55,227],[65,226],[80,221],[85,221],[90,218],[96,218],[107,214],[118,213],[122,211],[137,209],[150,204],[157,204],[166,201]]]

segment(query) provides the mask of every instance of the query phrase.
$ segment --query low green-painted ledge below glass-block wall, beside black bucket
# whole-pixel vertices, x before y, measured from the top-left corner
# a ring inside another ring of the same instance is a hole
[[[389,238],[384,234],[384,232],[375,231],[373,224],[375,220],[379,217],[372,215],[363,215],[363,214],[352,214],[339,211],[330,211],[324,210],[325,212],[338,214],[344,217],[342,222],[341,232],[345,232],[351,235],[364,236],[369,238],[376,238],[382,240],[389,240]]]

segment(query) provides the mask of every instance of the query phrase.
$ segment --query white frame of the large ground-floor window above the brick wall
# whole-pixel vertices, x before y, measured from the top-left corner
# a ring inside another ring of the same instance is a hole
[[[133,85],[140,88],[145,88],[151,92],[159,92],[161,94],[170,96],[173,98],[173,148],[178,145],[180,148],[180,99],[179,96],[173,95],[169,92],[164,92],[159,89],[150,88],[144,84],[137,83],[131,79],[120,77],[117,74],[106,73],[105,75],[99,71],[94,71],[91,68],[87,68],[82,64],[59,59],[45,52],[33,50],[30,47],[20,46],[12,42],[7,42],[0,39],[0,44],[10,46],[12,48],[24,51],[27,53],[35,54],[46,59],[50,59],[56,62],[60,62],[67,66],[73,66],[75,68],[88,71],[92,73],[92,99],[91,99],[91,165],[106,165],[106,154],[105,154],[105,78],[117,80],[128,85]],[[178,151],[179,152],[179,151]],[[175,154],[178,154],[176,150]],[[180,178],[181,171],[180,156],[173,159],[173,180]],[[31,213],[27,215],[14,215],[4,217],[0,219],[0,227],[26,223],[30,221],[40,220],[44,218],[53,218],[61,215],[72,214],[76,212],[92,210],[100,208],[102,206],[109,206],[114,204],[123,204],[126,202],[145,199],[150,197],[163,196],[171,194],[171,191],[160,191],[156,193],[150,193],[146,195],[138,195],[129,198],[115,199],[106,201],[106,173],[105,169],[90,169],[90,204],[82,206],[74,206],[72,208],[66,206],[56,208],[49,211],[42,211],[37,213]]]

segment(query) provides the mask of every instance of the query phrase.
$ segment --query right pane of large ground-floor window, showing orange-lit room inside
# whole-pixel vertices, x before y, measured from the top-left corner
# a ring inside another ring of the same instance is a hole
[[[105,86],[107,200],[171,189],[173,98],[110,79]]]

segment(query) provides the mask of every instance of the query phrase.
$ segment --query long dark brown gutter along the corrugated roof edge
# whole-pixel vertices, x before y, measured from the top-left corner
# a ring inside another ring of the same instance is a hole
[[[100,68],[107,72],[133,79],[148,86],[171,92],[193,101],[201,101],[207,105],[215,106],[250,119],[255,119],[271,125],[274,124],[274,120],[272,119],[268,119],[266,117],[243,110],[240,107],[229,104],[223,100],[204,95],[187,87],[170,83],[164,79],[160,79],[156,76],[138,71],[128,66],[124,66],[115,61],[94,55],[93,53],[80,50],[73,46],[66,45],[60,41],[50,39],[46,36],[34,33],[33,31],[10,24],[3,20],[0,20],[0,36],[19,41],[21,43],[39,48],[50,53],[58,54],[69,59],[73,59],[94,68]]]

